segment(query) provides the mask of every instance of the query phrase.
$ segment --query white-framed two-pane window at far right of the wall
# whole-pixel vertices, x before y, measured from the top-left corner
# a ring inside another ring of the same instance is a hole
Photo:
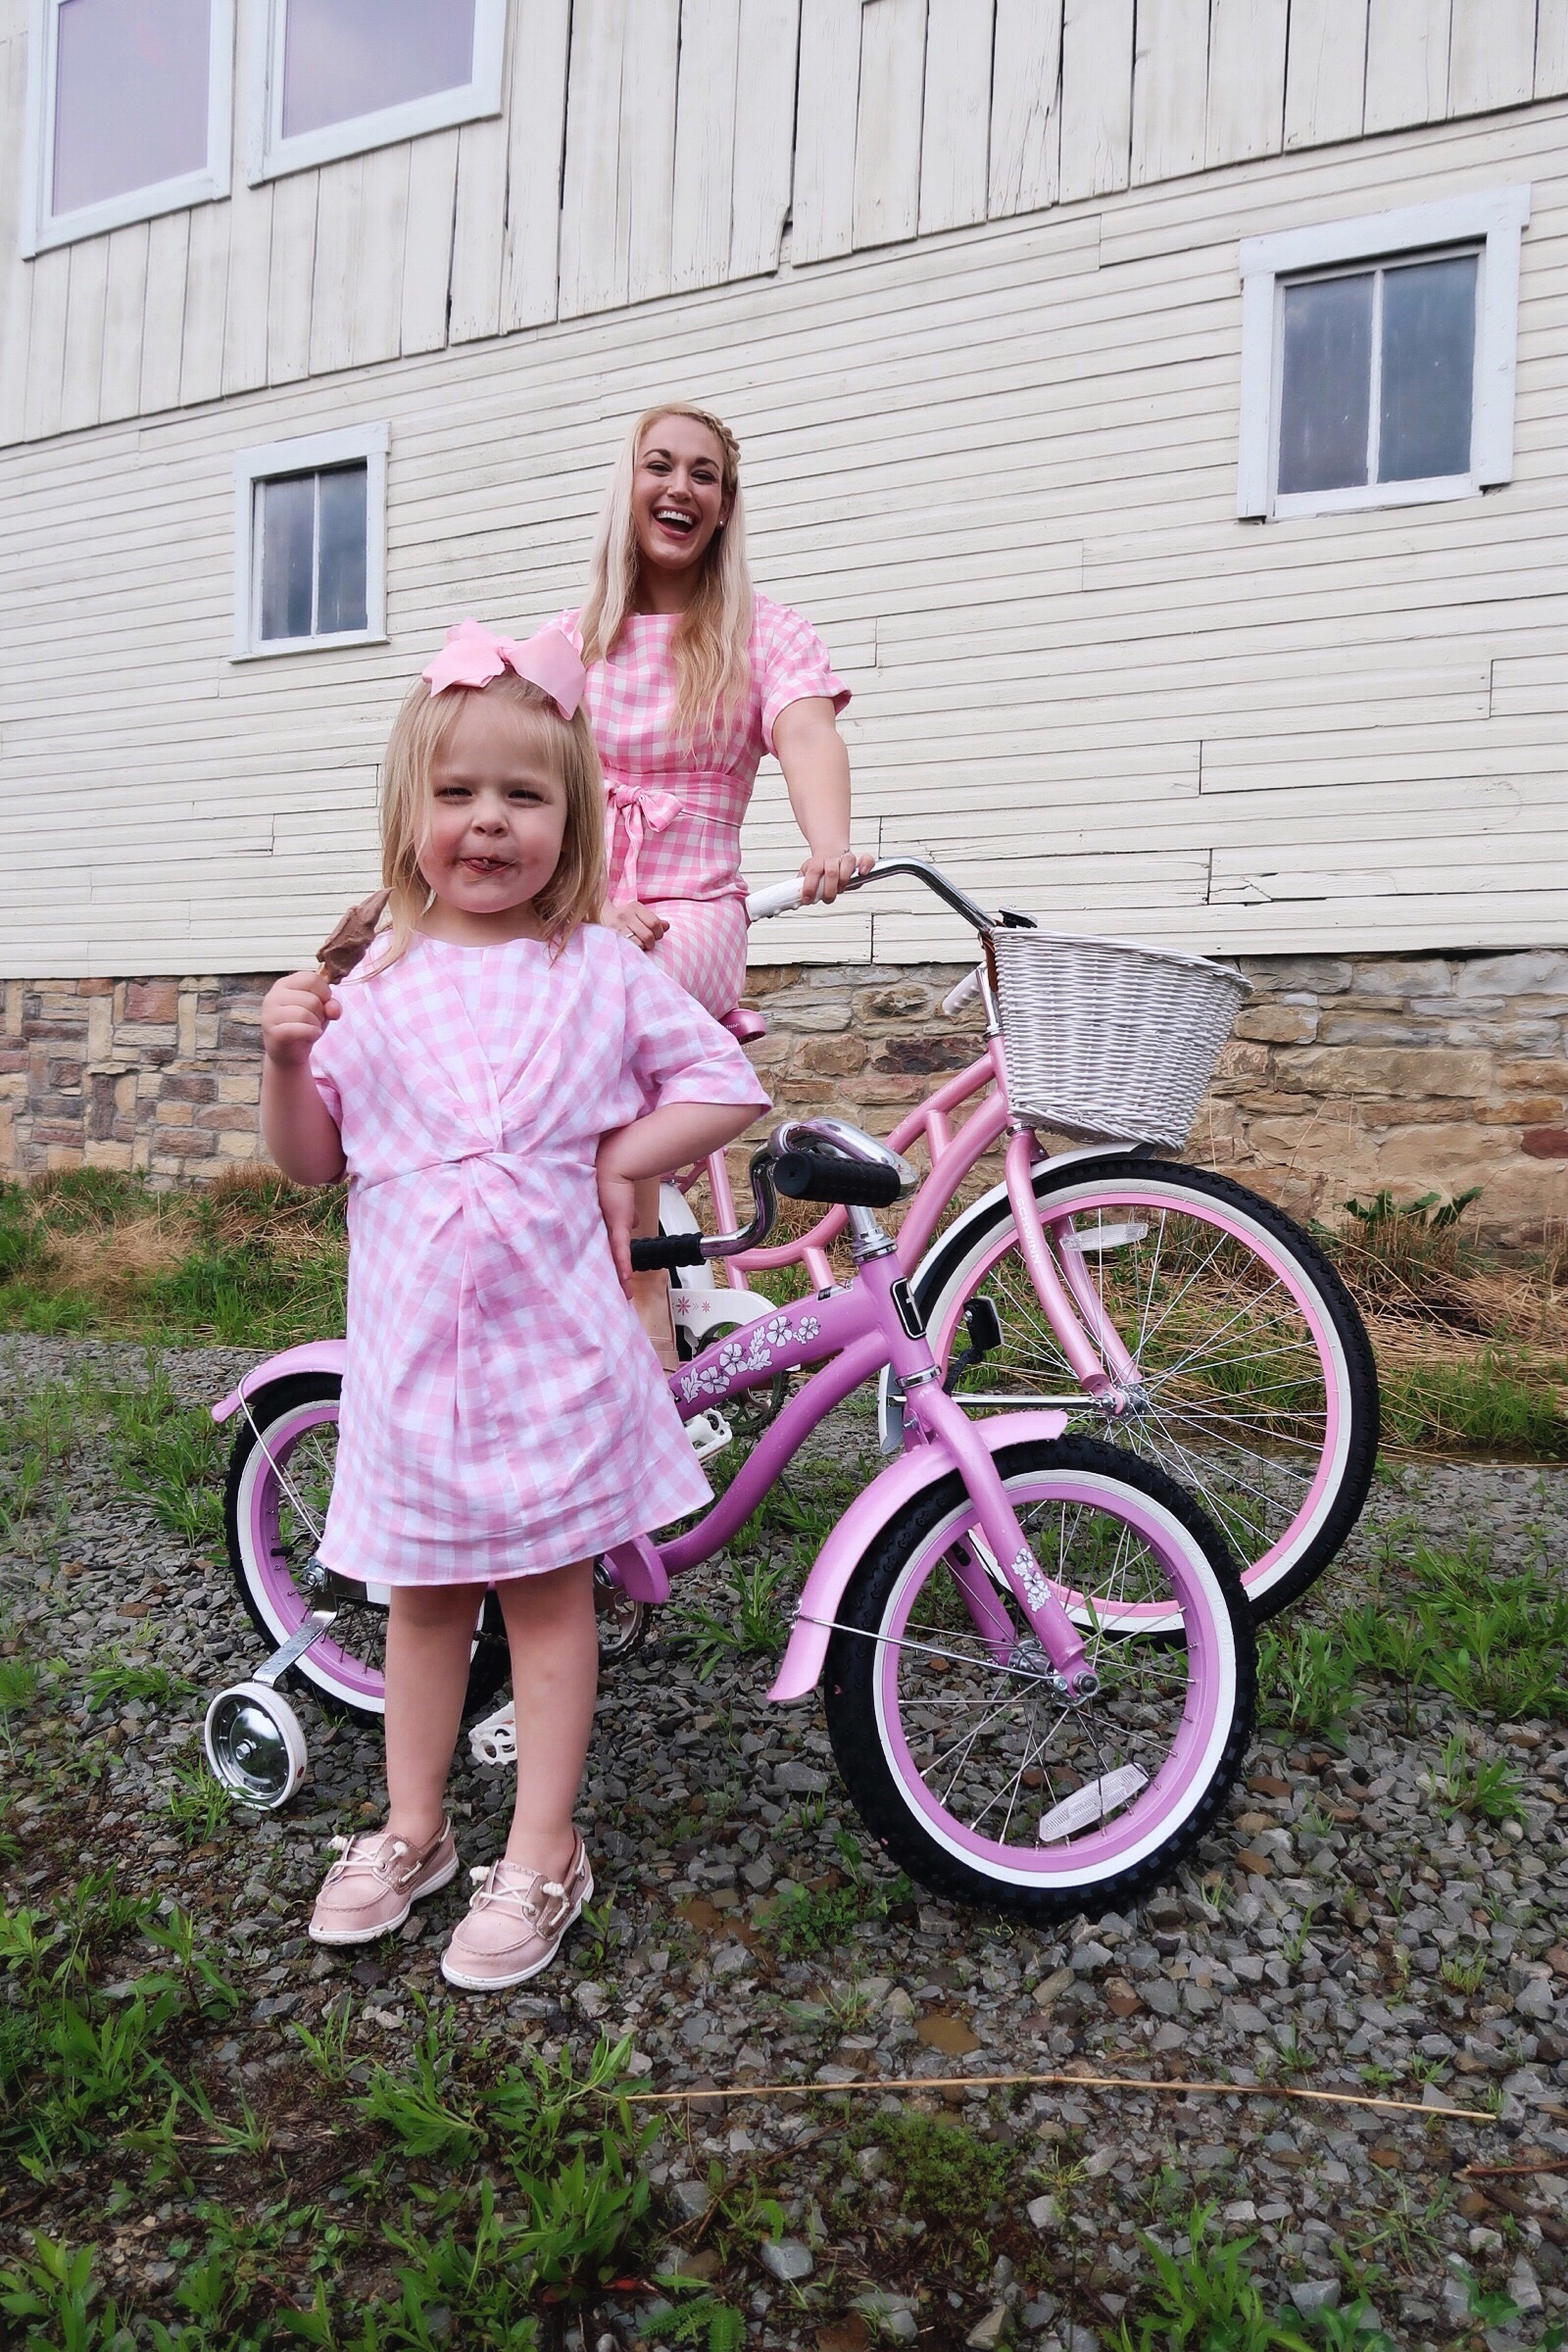
[[[1237,510],[1462,499],[1514,470],[1528,188],[1241,245]]]

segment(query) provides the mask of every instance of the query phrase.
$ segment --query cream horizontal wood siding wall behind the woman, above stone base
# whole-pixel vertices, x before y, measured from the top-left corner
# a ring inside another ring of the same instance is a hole
[[[804,0],[802,82],[811,19]],[[1192,136],[1190,103],[1133,113]],[[1222,953],[1559,938],[1566,127],[1556,101],[1293,151],[0,452],[5,969],[308,953],[374,880],[407,680],[454,614],[527,626],[576,595],[621,423],[665,383],[733,421],[757,579],[853,687],[863,842],[926,849],[1060,924]],[[1009,183],[1030,153],[1018,134]],[[1516,480],[1237,522],[1241,233],[1509,181],[1535,191]],[[299,205],[315,282],[357,318],[350,174],[273,195],[273,315],[308,320],[280,273],[277,214]],[[143,374],[209,301],[186,226],[150,223]],[[63,369],[75,254],[47,259],[66,266],[35,275],[35,322]],[[407,282],[400,299],[407,318]],[[233,452],[360,421],[390,428],[390,647],[230,663]],[[750,873],[797,858],[766,769]],[[755,948],[919,960],[961,936],[889,891]]]

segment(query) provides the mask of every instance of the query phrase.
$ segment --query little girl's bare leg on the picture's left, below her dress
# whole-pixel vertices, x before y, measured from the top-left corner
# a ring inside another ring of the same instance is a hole
[[[447,1811],[480,1585],[393,1585],[386,1616],[386,1825],[425,1846]]]

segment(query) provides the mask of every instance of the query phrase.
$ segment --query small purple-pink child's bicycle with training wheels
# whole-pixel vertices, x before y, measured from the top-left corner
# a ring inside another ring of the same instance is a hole
[[[686,1421],[813,1376],[712,1510],[599,1564],[611,1628],[726,1545],[823,1416],[889,1374],[905,1449],[827,1536],[769,1698],[823,1682],[856,1811],[936,1893],[1030,1922],[1135,1903],[1220,1816],[1251,1736],[1253,1628],[1225,1538],[1157,1465],[1063,1435],[1060,1409],[973,1421],[947,1395],[875,1214],[917,1183],[893,1148],[837,1120],[788,1122],[755,1152],[750,1183],[745,1228],[639,1242],[635,1258],[677,1270],[759,1251],[783,1192],[837,1207],[853,1275],[712,1338],[672,1374]],[[252,1804],[284,1802],[303,1773],[303,1731],[277,1691],[292,1668],[343,1705],[381,1703],[386,1595],[313,1557],[339,1378],[341,1343],[292,1348],[216,1406],[240,1414],[235,1569],[277,1649],[214,1698],[207,1755]],[[480,1689],[503,1656],[482,1613]]]

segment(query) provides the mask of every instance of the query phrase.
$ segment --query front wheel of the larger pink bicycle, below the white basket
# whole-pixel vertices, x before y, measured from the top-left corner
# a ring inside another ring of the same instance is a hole
[[[1286,1609],[1356,1524],[1378,1458],[1378,1369],[1349,1291],[1284,1209],[1227,1176],[1105,1157],[1039,1169],[1046,1232],[1133,1357],[1124,1411],[1088,1397],[1034,1296],[1004,1188],[936,1242],[914,1298],[936,1359],[987,1296],[1001,1348],[973,1406],[1058,1404],[1190,1486],[1241,1564],[1253,1618]],[[1103,1350],[1100,1350],[1103,1352]]]

